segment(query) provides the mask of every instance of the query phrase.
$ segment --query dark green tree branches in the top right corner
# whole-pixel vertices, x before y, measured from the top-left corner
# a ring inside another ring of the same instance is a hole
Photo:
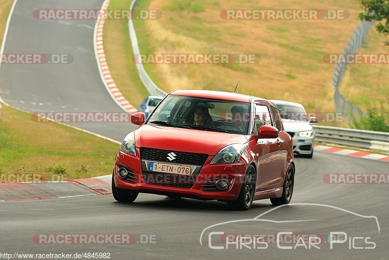
[[[359,14],[362,21],[379,21],[375,28],[384,36],[389,34],[389,0],[362,0],[364,13]],[[389,45],[389,40],[385,41]]]

